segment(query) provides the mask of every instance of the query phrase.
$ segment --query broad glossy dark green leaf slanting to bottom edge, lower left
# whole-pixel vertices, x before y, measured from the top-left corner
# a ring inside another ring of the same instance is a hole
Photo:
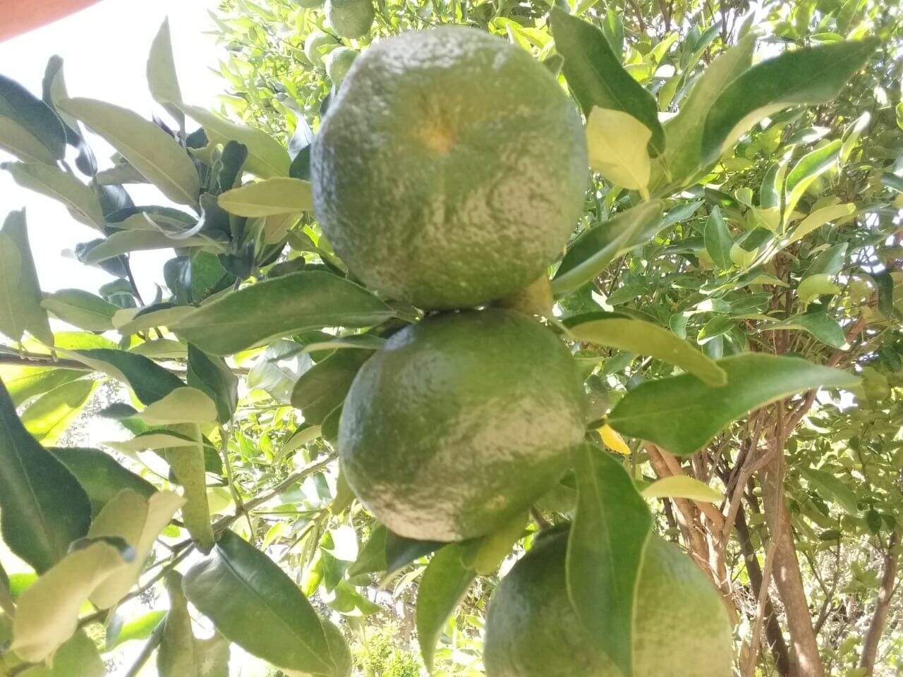
[[[219,633],[282,670],[338,675],[321,621],[284,571],[232,532],[185,575],[185,595]]]

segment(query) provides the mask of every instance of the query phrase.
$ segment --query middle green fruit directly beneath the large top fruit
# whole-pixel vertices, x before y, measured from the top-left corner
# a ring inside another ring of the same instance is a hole
[[[551,330],[515,311],[443,313],[397,332],[358,372],[341,468],[390,531],[473,538],[563,475],[583,415],[577,366]]]

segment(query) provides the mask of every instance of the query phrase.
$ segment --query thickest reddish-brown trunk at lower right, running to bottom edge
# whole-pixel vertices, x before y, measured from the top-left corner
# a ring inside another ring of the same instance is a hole
[[[781,463],[783,449],[778,450],[777,458],[764,468],[762,473],[762,507],[768,522],[768,531],[776,543],[775,549],[775,583],[777,593],[784,603],[787,615],[787,631],[794,649],[792,677],[824,677],[824,663],[818,654],[818,642],[815,639],[815,628],[812,625],[812,614],[805,598],[803,576],[796,560],[796,546],[790,522],[787,520],[787,507],[784,504],[784,493],[781,482]]]

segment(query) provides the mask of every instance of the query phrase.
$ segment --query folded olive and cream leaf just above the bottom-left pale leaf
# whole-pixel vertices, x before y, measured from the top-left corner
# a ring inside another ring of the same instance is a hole
[[[157,536],[184,503],[185,499],[172,491],[158,491],[144,498],[132,489],[123,489],[104,505],[91,524],[88,537],[117,536],[132,546],[135,559],[94,589],[89,596],[94,604],[110,608],[126,596],[138,581]]]

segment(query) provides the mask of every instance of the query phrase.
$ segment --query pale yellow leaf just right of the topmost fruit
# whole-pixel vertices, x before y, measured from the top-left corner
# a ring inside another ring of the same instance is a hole
[[[628,190],[646,190],[651,161],[647,144],[652,131],[620,110],[593,107],[586,121],[590,166]]]

